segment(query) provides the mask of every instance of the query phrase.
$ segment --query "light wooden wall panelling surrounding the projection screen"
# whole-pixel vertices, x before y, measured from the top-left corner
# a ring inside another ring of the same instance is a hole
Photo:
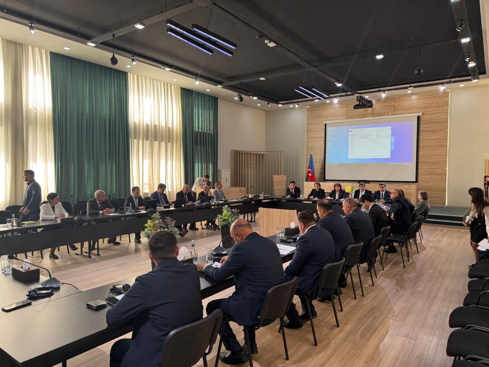
[[[422,116],[420,116],[417,190],[428,191],[429,201],[432,205],[444,206],[448,144],[448,100],[448,92],[435,92],[374,100],[371,109],[354,110],[353,105],[356,102],[311,107],[307,111],[306,166],[308,165],[312,148],[316,180],[323,182],[325,121],[375,117],[389,115],[389,113],[392,113],[392,115],[422,113]],[[392,185],[389,185],[390,188],[393,187]]]

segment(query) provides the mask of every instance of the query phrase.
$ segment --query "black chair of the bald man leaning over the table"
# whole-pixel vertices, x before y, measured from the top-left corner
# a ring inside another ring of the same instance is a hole
[[[294,298],[295,290],[297,288],[297,281],[298,281],[297,277],[294,276],[288,282],[271,287],[268,290],[267,294],[265,295],[262,308],[260,310],[260,313],[258,314],[259,322],[256,325],[243,326],[244,343],[248,346],[248,358],[249,358],[250,367],[253,367],[253,358],[251,355],[251,345],[248,342],[249,341],[248,330],[250,329],[258,330],[262,326],[267,326],[277,319],[280,320],[280,330],[282,330],[282,339],[284,341],[285,358],[289,360],[289,351],[287,350],[287,340],[285,339],[284,315],[286,311],[289,309],[289,305],[290,303],[292,303],[292,299]],[[234,320],[228,317],[224,317],[222,319],[220,334],[222,334],[222,325],[224,324],[224,322],[229,322],[229,321],[234,321]],[[217,367],[219,363],[221,346],[222,346],[222,338],[219,339],[219,346],[217,348],[215,367]]]

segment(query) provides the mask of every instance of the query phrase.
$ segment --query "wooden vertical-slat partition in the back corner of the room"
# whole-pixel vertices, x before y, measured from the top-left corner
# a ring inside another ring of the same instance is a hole
[[[231,151],[231,185],[246,195],[273,195],[273,175],[284,173],[284,151]]]

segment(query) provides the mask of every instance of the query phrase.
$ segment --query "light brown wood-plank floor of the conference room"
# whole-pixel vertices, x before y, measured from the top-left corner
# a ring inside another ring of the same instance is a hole
[[[257,229],[256,225],[254,227]],[[278,323],[259,330],[256,335],[259,354],[253,356],[254,366],[451,366],[451,359],[445,354],[451,331],[448,316],[455,307],[462,305],[467,294],[467,265],[474,260],[468,244],[469,231],[425,225],[423,234],[420,252],[412,250],[406,269],[402,268],[399,252],[389,255],[384,262],[385,271],[377,262],[375,287],[366,267],[360,268],[365,297],[355,300],[350,282],[343,289],[344,312],[338,312],[339,328],[334,324],[331,302],[315,302],[317,347],[314,347],[309,324],[297,330],[286,329],[290,355],[286,361],[282,337],[277,333]],[[196,239],[196,247],[204,251],[215,247],[220,237],[219,232],[190,232],[179,240],[180,246],[190,247],[191,239]],[[129,244],[126,236],[120,246],[101,244],[101,256],[93,259],[68,255],[65,247],[59,260],[44,258],[40,264],[51,269],[61,281],[87,290],[149,271],[146,239],[142,241],[139,245]],[[358,276],[356,272],[353,274],[358,296]],[[232,289],[214,298],[224,298],[231,293]],[[214,298],[204,300],[204,310],[207,302]],[[242,341],[239,327],[232,326]],[[109,366],[112,343],[72,358],[68,366]],[[214,359],[215,351],[209,365],[213,365]]]

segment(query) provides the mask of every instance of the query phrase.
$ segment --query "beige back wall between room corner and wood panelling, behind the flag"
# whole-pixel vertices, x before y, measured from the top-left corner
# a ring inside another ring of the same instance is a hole
[[[267,111],[266,149],[284,151],[284,175],[300,186],[306,179],[306,107]],[[300,186],[302,187],[302,186]]]

